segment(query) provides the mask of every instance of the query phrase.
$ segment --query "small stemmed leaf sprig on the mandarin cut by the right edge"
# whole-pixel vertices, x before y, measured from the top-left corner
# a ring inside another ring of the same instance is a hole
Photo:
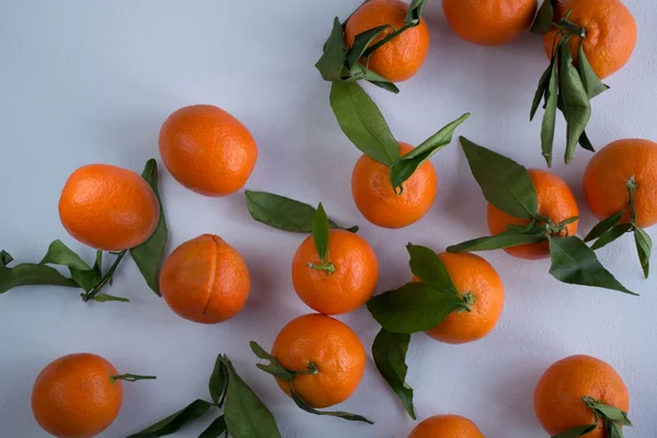
[[[634,177],[627,180],[627,193],[630,200],[627,206],[621,211],[602,219],[584,239],[585,242],[596,241],[592,250],[599,250],[620,237],[629,232],[634,232],[634,244],[638,254],[638,262],[643,269],[644,276],[648,278],[650,274],[650,253],[653,252],[653,240],[648,233],[636,226],[636,208],[634,206],[634,192],[636,191],[636,182]],[[630,222],[620,223],[627,210],[631,212]]]

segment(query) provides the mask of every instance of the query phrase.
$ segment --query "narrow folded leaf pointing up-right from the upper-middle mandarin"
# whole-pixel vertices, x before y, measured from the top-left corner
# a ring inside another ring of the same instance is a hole
[[[461,117],[442,127],[438,132],[434,134],[417,148],[395,160],[390,168],[390,180],[392,186],[397,193],[401,189],[402,183],[411,177],[413,173],[425,161],[430,159],[436,152],[451,143],[454,129],[470,117],[470,113],[463,114]],[[397,189],[399,188],[399,189]]]

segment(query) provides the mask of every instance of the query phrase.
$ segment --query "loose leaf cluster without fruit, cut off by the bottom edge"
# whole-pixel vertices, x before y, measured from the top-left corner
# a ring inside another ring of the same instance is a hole
[[[232,362],[218,355],[209,381],[211,402],[198,399],[183,410],[128,438],[157,438],[174,434],[204,416],[212,406],[223,410],[198,438],[280,438],[272,412],[235,371]]]

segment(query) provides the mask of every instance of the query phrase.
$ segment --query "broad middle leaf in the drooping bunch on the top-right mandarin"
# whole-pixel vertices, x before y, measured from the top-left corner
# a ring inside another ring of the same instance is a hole
[[[575,148],[586,125],[591,118],[591,105],[577,69],[573,65],[568,37],[564,37],[558,47],[558,88],[562,97],[562,112],[566,118],[566,164],[573,161]]]

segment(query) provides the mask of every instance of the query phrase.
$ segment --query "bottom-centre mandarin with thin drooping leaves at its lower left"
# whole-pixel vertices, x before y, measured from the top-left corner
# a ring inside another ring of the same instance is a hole
[[[272,356],[286,369],[306,371],[313,362],[316,374],[292,380],[295,392],[312,407],[322,408],[347,400],[365,372],[365,348],[346,324],[316,313],[290,321],[278,334]],[[288,382],[276,380],[289,395]]]

